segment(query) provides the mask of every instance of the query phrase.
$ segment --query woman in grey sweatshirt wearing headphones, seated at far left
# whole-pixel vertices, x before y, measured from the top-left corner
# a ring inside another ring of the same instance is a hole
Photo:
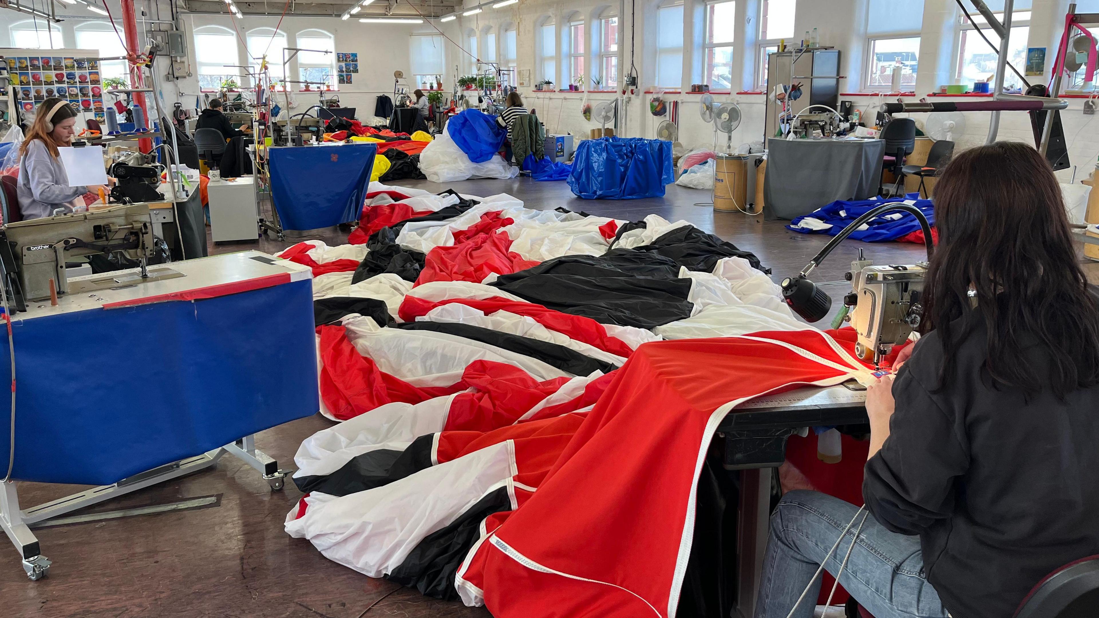
[[[104,192],[102,185],[70,187],[57,147],[71,146],[77,112],[65,99],[46,99],[38,106],[34,122],[19,147],[19,208],[23,220],[52,217],[54,211],[73,212],[85,206],[85,194]]]

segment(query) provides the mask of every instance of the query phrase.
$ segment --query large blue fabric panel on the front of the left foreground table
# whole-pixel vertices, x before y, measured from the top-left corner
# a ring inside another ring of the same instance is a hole
[[[108,485],[320,408],[309,279],[16,319],[13,334],[22,481]],[[2,347],[10,375],[7,336]]]

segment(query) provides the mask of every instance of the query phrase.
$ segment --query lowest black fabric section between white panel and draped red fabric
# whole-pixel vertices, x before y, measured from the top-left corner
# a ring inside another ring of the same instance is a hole
[[[454,588],[454,576],[480,538],[481,521],[507,510],[511,510],[507,487],[486,494],[449,526],[424,537],[386,578],[414,587],[425,596],[456,600],[458,592]]]

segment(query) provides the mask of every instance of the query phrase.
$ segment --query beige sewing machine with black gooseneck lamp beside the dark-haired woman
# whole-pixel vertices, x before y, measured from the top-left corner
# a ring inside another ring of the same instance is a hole
[[[801,273],[782,280],[782,298],[787,305],[808,322],[824,318],[832,308],[832,297],[809,280],[807,275],[863,223],[892,210],[910,212],[920,221],[930,262],[934,249],[931,225],[920,209],[903,202],[884,203],[872,208],[833,236]],[[858,333],[855,352],[859,358],[879,366],[881,358],[895,345],[903,344],[919,328],[923,316],[921,297],[926,269],[926,263],[876,266],[864,258],[862,250],[858,251],[858,260],[852,262],[846,275],[853,290],[844,296],[841,316]]]

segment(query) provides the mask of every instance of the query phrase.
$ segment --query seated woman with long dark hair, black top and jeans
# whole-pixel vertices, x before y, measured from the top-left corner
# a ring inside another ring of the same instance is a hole
[[[975,147],[942,173],[935,219],[923,336],[867,393],[869,512],[786,494],[757,618],[811,617],[818,567],[844,562],[875,618],[1004,618],[1099,554],[1099,294],[1057,179],[1026,144]]]

